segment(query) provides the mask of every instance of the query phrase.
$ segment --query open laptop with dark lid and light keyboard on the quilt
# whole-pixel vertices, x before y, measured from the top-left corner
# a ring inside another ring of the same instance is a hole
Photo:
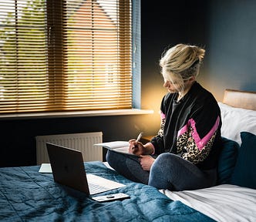
[[[122,183],[107,180],[93,174],[86,174],[83,155],[79,150],[73,150],[53,143],[46,143],[53,179],[57,183],[72,187],[86,193],[88,196],[103,193],[108,190],[125,187]]]

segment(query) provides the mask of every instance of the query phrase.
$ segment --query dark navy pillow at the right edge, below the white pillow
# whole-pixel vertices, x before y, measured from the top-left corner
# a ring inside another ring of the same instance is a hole
[[[241,132],[241,141],[231,184],[256,189],[256,136]]]

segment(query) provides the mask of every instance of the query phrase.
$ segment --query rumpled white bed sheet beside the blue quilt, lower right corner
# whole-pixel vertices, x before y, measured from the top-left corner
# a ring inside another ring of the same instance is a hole
[[[163,193],[220,222],[256,221],[256,190],[230,184]]]

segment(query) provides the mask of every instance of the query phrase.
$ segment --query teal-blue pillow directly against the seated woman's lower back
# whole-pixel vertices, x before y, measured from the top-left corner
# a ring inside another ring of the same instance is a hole
[[[217,184],[231,183],[234,166],[237,161],[239,144],[222,137],[222,149],[217,165]]]

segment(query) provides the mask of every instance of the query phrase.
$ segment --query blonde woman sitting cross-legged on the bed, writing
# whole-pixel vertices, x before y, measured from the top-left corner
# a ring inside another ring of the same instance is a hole
[[[204,49],[175,45],[164,53],[161,126],[144,144],[130,140],[129,152],[108,151],[109,165],[124,177],[157,189],[194,190],[217,182],[221,111],[211,93],[196,81]]]

